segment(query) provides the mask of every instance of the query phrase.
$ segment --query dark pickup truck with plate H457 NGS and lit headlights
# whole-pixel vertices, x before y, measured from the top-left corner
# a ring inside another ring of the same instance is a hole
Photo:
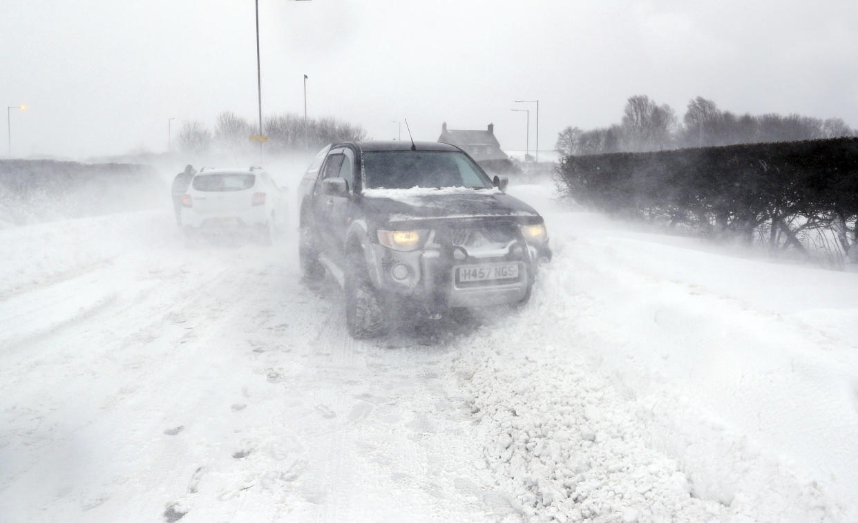
[[[340,283],[355,338],[403,310],[524,303],[551,249],[542,217],[505,186],[444,143],[325,147],[299,188],[304,276]]]

